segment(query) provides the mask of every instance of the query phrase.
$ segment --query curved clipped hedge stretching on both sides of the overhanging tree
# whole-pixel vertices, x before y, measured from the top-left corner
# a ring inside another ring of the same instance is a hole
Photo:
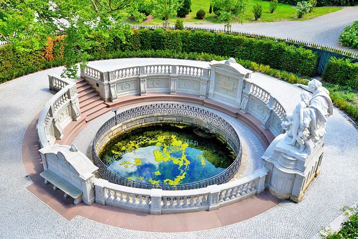
[[[97,58],[98,55],[112,55],[119,51],[169,50],[178,53],[209,53],[230,56],[269,65],[271,68],[302,76],[313,76],[317,69],[318,56],[316,53],[273,40],[258,40],[207,31],[160,28],[134,30],[132,33],[126,34],[126,41],[116,37],[107,41],[101,35],[95,35],[90,40],[97,42],[96,47],[88,50],[87,53]],[[35,72],[41,68],[63,64],[59,53],[60,43],[54,44],[53,51],[49,47],[46,51],[17,51],[11,44],[0,48],[0,82]],[[53,62],[48,61],[49,52],[56,53],[52,57],[55,59]]]

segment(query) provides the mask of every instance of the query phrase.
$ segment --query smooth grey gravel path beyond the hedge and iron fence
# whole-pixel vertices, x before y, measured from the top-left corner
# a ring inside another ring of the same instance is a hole
[[[344,27],[352,25],[354,21],[358,21],[358,6],[343,7],[342,10],[306,21],[233,23],[231,29],[283,39],[293,38],[358,53],[357,49],[342,47],[339,42],[339,34]],[[186,24],[186,26],[224,29],[224,24]]]

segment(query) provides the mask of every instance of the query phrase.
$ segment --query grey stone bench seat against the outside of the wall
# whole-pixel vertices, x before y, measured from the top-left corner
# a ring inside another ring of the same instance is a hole
[[[45,184],[48,184],[49,182],[53,184],[53,190],[56,190],[57,188],[61,189],[65,193],[65,198],[68,198],[68,196],[74,198],[75,205],[82,201],[82,191],[51,170],[45,170],[44,172],[40,173],[40,176],[45,179]]]

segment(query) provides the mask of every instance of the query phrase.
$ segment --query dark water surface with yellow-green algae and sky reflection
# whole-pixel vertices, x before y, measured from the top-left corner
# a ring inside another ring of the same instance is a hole
[[[226,142],[205,130],[150,125],[124,133],[103,147],[100,158],[122,177],[178,185],[213,177],[235,160]]]

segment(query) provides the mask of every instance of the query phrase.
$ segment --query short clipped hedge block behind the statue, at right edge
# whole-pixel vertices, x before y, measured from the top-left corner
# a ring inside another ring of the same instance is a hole
[[[332,84],[347,85],[358,89],[358,62],[332,57],[322,74],[322,79]]]

